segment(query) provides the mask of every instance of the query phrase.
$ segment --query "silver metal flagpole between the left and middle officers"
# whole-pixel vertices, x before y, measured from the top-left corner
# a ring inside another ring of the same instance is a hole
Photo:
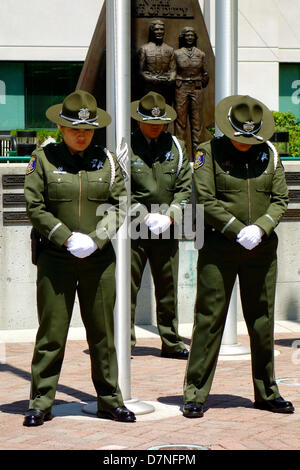
[[[130,204],[130,68],[131,68],[131,0],[106,1],[106,109],[112,117],[107,127],[107,148],[122,154],[120,166],[127,173],[125,181]],[[127,152],[126,152],[127,149]],[[119,385],[125,405],[135,414],[146,414],[154,407],[137,398],[131,398],[131,260],[129,220],[126,217],[113,240],[116,251],[117,299],[114,312],[115,344],[118,357]],[[84,411],[96,414],[96,403],[84,407]]]

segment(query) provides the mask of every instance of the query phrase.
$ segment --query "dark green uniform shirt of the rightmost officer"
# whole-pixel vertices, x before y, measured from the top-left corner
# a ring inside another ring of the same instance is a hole
[[[197,149],[196,202],[204,204],[205,223],[231,240],[251,224],[270,235],[287,208],[284,169],[271,147],[262,143],[241,152],[223,136]]]

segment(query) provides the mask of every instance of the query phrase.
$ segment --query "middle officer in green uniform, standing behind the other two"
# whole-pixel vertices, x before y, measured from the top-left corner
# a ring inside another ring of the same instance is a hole
[[[131,138],[131,203],[141,221],[140,236],[132,236],[131,241],[132,348],[136,299],[149,260],[161,355],[186,359],[188,350],[178,334],[179,250],[174,223],[180,223],[189,202],[192,173],[183,141],[164,131],[176,119],[176,112],[162,95],[149,92],[133,102],[131,117],[139,125]]]

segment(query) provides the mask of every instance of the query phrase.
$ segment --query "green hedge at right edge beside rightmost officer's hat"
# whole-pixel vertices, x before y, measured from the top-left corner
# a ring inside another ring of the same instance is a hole
[[[296,121],[293,113],[282,113],[272,111],[275,121],[275,131],[288,131],[290,135],[289,155],[291,157],[300,157],[300,123]]]

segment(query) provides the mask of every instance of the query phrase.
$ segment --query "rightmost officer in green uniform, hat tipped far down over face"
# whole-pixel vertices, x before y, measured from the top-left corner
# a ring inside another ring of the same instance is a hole
[[[194,162],[196,202],[204,205],[195,322],[184,383],[184,411],[201,417],[221,345],[231,292],[239,277],[252,356],[254,407],[292,413],[274,378],[275,227],[288,204],[284,169],[268,139],[272,113],[249,96],[216,108],[222,137],[201,144]]]

